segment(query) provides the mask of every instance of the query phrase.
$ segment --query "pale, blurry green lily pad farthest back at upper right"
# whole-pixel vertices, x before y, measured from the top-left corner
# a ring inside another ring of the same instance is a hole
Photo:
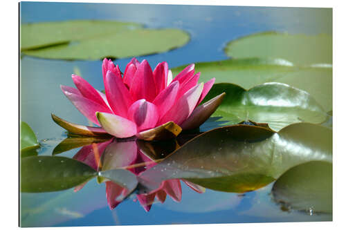
[[[289,35],[262,32],[230,41],[224,50],[233,58],[284,59],[300,66],[332,64],[331,35]]]

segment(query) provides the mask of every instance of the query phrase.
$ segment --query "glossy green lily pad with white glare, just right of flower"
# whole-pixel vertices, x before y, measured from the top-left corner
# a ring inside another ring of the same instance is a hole
[[[327,113],[311,95],[281,83],[266,83],[250,90],[235,84],[215,84],[206,98],[226,93],[213,116],[221,116],[228,124],[252,120],[268,123],[274,131],[297,122],[320,124]]]

